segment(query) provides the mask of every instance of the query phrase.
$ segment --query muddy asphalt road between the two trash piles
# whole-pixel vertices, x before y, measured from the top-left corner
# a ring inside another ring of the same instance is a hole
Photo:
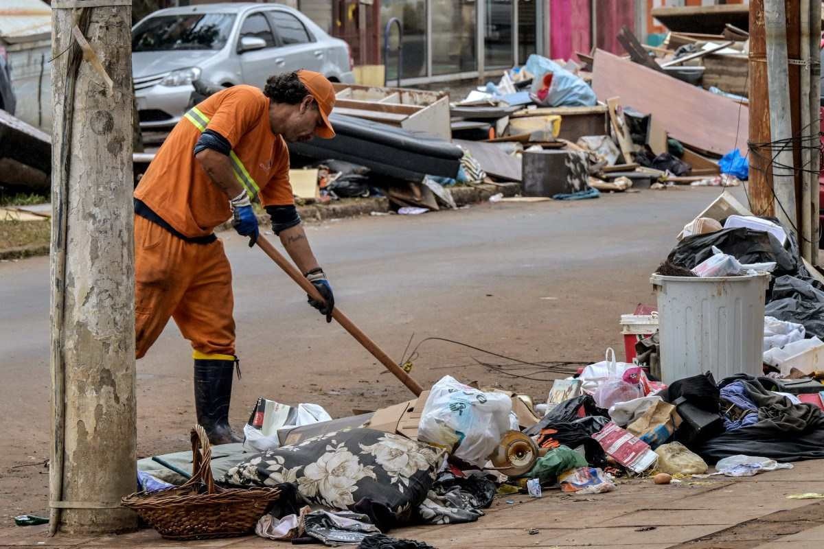
[[[681,227],[720,192],[687,187],[582,202],[483,204],[325,222],[307,232],[339,307],[393,358],[400,360],[414,334],[416,342],[447,337],[522,361],[597,361],[606,347],[620,356],[620,314],[654,303],[649,274]],[[222,238],[234,273],[243,374],[233,393],[236,426],[258,396],[316,402],[333,416],[410,397],[342,328],[310,309],[265,254],[234,234]],[[424,387],[451,374],[517,389],[536,402],[546,397],[550,383],[508,378],[475,359],[507,363],[427,342],[412,375]],[[190,347],[170,323],[138,361],[139,454],[188,446],[191,370]],[[49,453],[48,258],[0,263],[0,417],[2,524],[45,503],[47,475],[31,464]],[[26,467],[12,468],[19,465]]]

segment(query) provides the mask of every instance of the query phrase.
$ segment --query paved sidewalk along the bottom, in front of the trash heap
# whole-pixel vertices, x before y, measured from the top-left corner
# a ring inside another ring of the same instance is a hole
[[[498,496],[476,523],[415,526],[390,533],[439,549],[498,547],[818,548],[824,544],[824,500],[787,495],[824,492],[822,461],[756,477],[710,477],[657,486],[625,480],[614,492],[541,499]],[[512,503],[508,503],[512,502]],[[164,540],[153,530],[111,537],[45,537],[46,527],[0,530],[0,547],[288,547],[259,537],[202,542]],[[537,533],[530,533],[536,528]],[[322,546],[316,546],[322,547]]]

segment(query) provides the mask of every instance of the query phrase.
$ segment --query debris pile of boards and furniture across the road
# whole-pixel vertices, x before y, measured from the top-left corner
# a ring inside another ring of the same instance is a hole
[[[618,38],[627,58],[533,54],[452,103],[435,91],[335,84],[337,136],[290,144],[293,164],[319,170],[298,196],[386,195],[396,210],[425,212],[454,207],[455,184],[517,183],[522,197],[503,200],[527,202],[747,179],[746,98],[695,86],[705,71],[693,66],[746,61],[742,35],[724,48],[683,33],[664,48],[627,28]]]

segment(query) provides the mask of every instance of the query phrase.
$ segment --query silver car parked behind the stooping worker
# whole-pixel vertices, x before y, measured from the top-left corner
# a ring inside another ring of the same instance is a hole
[[[194,80],[263,88],[279,72],[307,68],[353,83],[349,45],[279,4],[222,3],[154,12],[132,29],[132,71],[140,127],[170,128],[183,116]]]

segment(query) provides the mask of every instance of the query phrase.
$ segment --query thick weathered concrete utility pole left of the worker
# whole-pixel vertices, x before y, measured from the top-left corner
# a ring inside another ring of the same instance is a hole
[[[53,0],[50,532],[133,529],[131,0]]]

